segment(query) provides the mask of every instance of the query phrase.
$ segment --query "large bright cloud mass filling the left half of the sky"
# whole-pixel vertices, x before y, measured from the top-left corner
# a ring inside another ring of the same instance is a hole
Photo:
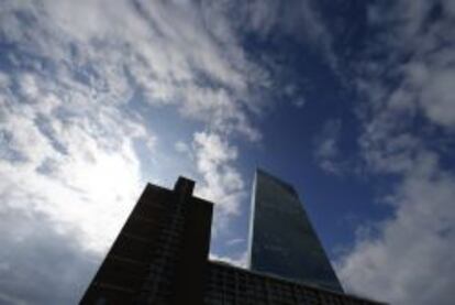
[[[145,183],[137,143],[153,157],[165,141],[143,108],[175,108],[176,123],[203,127],[182,139],[193,149],[199,192],[219,201],[215,224],[237,213],[244,182],[231,139],[260,139],[251,117],[263,106],[248,96],[267,88],[269,76],[245,54],[218,6],[7,1],[0,40],[0,222],[27,232],[1,235],[0,265],[18,276],[0,282],[0,299],[77,301],[93,268],[86,259],[107,251]],[[34,257],[26,257],[32,247]],[[62,260],[56,271],[68,279],[52,279],[52,258]],[[31,273],[41,284],[16,291]],[[62,295],[46,296],[48,286]]]

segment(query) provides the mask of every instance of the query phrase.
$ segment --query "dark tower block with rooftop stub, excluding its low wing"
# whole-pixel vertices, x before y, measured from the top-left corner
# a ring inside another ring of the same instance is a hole
[[[202,304],[212,204],[148,184],[80,304]]]

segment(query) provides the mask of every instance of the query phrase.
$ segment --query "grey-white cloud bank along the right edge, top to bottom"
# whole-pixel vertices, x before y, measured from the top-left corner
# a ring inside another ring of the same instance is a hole
[[[363,65],[358,143],[369,172],[393,176],[380,198],[393,215],[358,235],[337,269],[349,291],[392,304],[453,303],[455,176],[440,157],[444,148],[432,145],[454,127],[448,2],[402,0],[369,13],[384,32],[367,52],[386,52],[387,59]]]

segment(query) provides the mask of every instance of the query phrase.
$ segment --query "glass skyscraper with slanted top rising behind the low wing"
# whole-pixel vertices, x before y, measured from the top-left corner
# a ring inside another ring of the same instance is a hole
[[[296,190],[262,170],[253,184],[248,254],[253,271],[343,292]]]

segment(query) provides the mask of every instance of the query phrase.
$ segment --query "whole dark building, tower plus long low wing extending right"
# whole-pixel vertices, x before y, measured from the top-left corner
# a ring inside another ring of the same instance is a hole
[[[379,304],[282,274],[209,260],[213,204],[148,184],[80,304],[303,305]]]

